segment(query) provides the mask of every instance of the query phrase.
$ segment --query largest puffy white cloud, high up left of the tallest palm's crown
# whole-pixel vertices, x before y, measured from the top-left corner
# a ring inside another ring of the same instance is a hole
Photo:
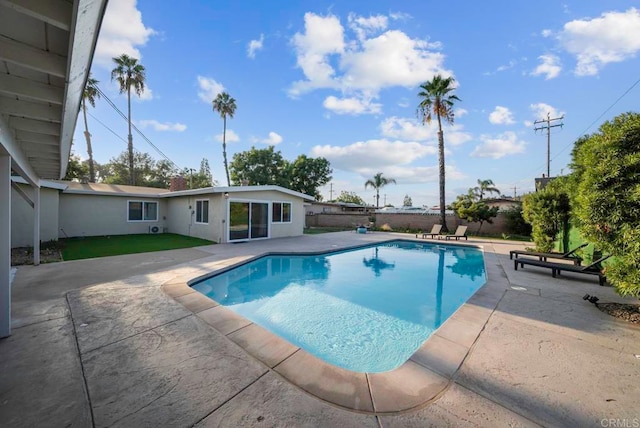
[[[413,87],[436,74],[452,74],[443,66],[444,55],[435,51],[439,43],[386,30],[388,19],[383,15],[350,15],[348,21],[357,30],[354,39],[345,39],[336,16],[305,14],[304,32],[292,38],[305,79],[292,83],[290,96],[324,88],[341,91],[344,99],[372,99],[386,87]],[[384,32],[376,35],[380,31]]]

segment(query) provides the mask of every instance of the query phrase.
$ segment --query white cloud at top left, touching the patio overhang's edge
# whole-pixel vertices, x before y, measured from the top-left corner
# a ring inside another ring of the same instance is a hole
[[[96,64],[111,70],[114,67],[112,58],[123,53],[133,58],[142,58],[138,48],[146,45],[149,38],[157,33],[152,28],[145,27],[136,3],[136,0],[108,2],[96,44]]]

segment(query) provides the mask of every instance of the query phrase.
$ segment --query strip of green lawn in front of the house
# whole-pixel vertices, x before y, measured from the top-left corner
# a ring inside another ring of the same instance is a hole
[[[174,233],[161,233],[158,235],[141,234],[68,238],[61,240],[61,247],[63,260],[80,260],[191,248],[214,243],[206,239],[176,235]]]

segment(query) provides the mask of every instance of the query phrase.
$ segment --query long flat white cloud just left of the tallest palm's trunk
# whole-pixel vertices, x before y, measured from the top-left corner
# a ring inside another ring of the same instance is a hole
[[[386,139],[360,141],[348,146],[314,146],[311,154],[322,156],[331,166],[344,171],[362,168],[380,169],[407,165],[416,159],[434,155],[437,149],[417,142],[389,141]]]

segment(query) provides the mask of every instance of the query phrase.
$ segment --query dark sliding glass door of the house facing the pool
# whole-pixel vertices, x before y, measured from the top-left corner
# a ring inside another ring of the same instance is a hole
[[[268,237],[267,202],[229,202],[229,241]]]

